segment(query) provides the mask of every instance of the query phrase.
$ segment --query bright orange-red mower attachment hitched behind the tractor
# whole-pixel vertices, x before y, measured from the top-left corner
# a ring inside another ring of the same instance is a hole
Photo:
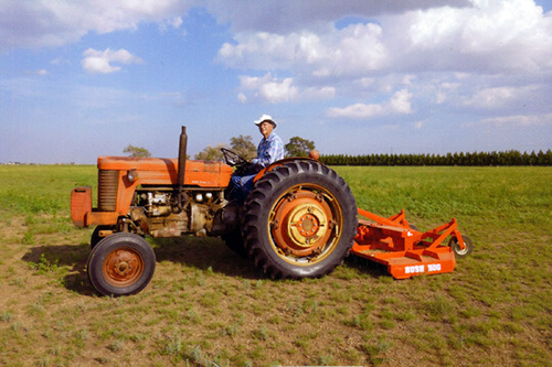
[[[358,211],[371,222],[359,219],[351,253],[388,266],[388,272],[395,279],[452,272],[456,266],[455,253],[452,246],[442,245],[448,236],[456,238],[459,251],[466,249],[454,218],[421,233],[408,225],[404,211],[390,218]]]

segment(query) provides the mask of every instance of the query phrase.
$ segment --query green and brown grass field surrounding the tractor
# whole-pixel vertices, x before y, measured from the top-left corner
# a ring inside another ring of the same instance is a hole
[[[0,365],[552,365],[551,168],[336,168],[358,206],[456,217],[453,273],[393,280],[349,258],[270,281],[216,238],[151,240],[151,284],[98,296],[68,194],[94,166],[0,166]]]

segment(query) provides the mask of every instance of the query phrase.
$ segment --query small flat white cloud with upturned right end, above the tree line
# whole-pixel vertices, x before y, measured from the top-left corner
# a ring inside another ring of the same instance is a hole
[[[369,119],[385,115],[407,115],[412,112],[412,94],[406,89],[396,91],[389,101],[382,104],[355,104],[344,108],[329,108],[326,112],[331,118]]]

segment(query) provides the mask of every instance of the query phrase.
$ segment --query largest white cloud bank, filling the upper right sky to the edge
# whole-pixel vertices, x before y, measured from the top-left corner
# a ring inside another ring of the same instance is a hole
[[[532,0],[470,2],[471,7],[465,8],[446,7],[444,2],[437,7],[434,2],[413,11],[383,14],[378,23],[353,23],[343,29],[333,28],[333,22],[359,4],[343,6],[344,10],[320,4],[326,11],[332,8],[333,15],[322,15],[320,9],[310,14],[298,11],[299,15],[291,17],[301,17],[305,22],[298,22],[302,28],[293,31],[284,26],[268,32],[251,20],[248,26],[238,28],[242,32],[234,36],[235,43],[220,48],[217,58],[241,69],[287,69],[301,80],[308,76],[367,79],[386,73],[552,72],[552,17],[543,14]],[[273,7],[283,14],[302,8],[278,3]],[[397,2],[392,3],[397,10]],[[269,18],[267,11],[261,13]],[[309,15],[326,20],[326,25],[314,26]]]

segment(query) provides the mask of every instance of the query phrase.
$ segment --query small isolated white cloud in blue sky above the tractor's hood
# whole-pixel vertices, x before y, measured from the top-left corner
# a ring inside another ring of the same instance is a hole
[[[119,72],[120,66],[114,66],[113,63],[117,64],[141,64],[144,61],[129,53],[126,50],[112,51],[106,48],[105,51],[97,51],[94,48],[88,48],[83,53],[85,56],[82,61],[83,68],[89,74],[109,74]]]

